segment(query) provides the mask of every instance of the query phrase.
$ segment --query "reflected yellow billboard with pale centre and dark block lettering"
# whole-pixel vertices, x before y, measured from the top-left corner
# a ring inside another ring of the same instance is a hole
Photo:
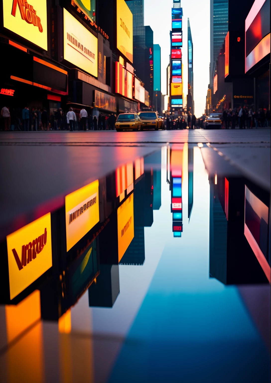
[[[65,196],[66,242],[69,251],[99,222],[99,181]]]

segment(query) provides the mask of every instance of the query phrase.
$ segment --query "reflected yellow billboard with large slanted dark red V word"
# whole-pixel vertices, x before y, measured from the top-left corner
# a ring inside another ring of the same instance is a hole
[[[51,213],[7,236],[10,299],[52,267]]]

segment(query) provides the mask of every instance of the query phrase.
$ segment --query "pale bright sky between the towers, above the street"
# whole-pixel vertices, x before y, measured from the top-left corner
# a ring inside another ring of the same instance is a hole
[[[153,43],[161,47],[161,91],[167,93],[167,66],[170,54],[171,7],[173,0],[144,0],[145,25],[153,30]],[[194,102],[195,115],[204,113],[210,64],[210,1],[181,0],[183,8],[183,103],[186,104],[187,64],[187,18],[189,17],[193,40]]]

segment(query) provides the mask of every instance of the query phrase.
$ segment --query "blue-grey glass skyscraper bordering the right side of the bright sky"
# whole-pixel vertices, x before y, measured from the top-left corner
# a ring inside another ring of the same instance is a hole
[[[237,10],[236,10],[237,11]],[[213,88],[215,60],[229,29],[228,0],[211,0],[210,2],[210,87]]]

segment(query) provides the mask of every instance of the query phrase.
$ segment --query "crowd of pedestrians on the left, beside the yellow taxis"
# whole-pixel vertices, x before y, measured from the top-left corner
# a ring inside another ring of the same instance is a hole
[[[3,106],[1,110],[0,129],[9,131],[38,131],[38,130],[114,130],[116,115],[113,113],[100,113],[98,118],[92,116],[85,109],[77,110],[72,108],[65,113],[62,108],[54,113],[47,112],[46,108],[31,108],[28,105],[23,109]]]

